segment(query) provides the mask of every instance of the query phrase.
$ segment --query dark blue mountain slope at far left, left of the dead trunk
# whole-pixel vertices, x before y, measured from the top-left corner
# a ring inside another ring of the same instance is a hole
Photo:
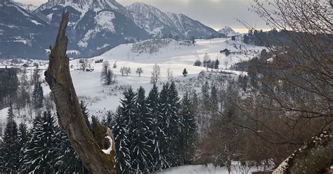
[[[44,47],[51,44],[49,40],[55,38],[55,34],[46,22],[17,4],[0,3],[0,56],[37,58],[44,55],[47,58]]]

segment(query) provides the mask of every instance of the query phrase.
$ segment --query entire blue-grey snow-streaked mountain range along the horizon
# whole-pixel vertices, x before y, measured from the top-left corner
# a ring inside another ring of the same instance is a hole
[[[70,57],[100,55],[119,44],[150,38],[221,36],[186,15],[164,13],[143,3],[124,7],[115,0],[48,0],[34,7],[0,0],[0,57],[46,59],[63,11],[70,12]]]

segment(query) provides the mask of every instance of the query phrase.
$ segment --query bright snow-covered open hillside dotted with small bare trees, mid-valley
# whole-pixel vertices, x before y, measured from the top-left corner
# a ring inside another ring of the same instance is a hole
[[[204,55],[207,53],[211,60],[218,59],[220,68],[225,69],[230,67],[236,62],[247,60],[247,56],[242,55],[239,49],[250,49],[252,51],[260,51],[261,48],[256,46],[247,46],[240,41],[230,41],[230,39],[211,39],[211,40],[197,40],[195,46],[185,46],[180,44],[181,41],[171,41],[169,46],[159,48],[157,53],[133,53],[131,48],[133,44],[123,44],[107,51],[103,55],[91,58],[91,68],[93,72],[82,72],[79,70],[72,71],[72,79],[74,86],[77,90],[79,98],[88,102],[91,114],[99,114],[107,110],[115,110],[119,105],[119,98],[122,98],[122,91],[126,86],[132,86],[137,89],[139,86],[145,88],[146,93],[149,92],[152,84],[150,83],[150,76],[152,66],[157,63],[161,67],[161,76],[158,85],[162,86],[167,80],[167,69],[172,72],[174,79],[178,85],[188,86],[194,88],[192,79],[196,79],[197,75],[206,71],[204,67],[193,66],[195,60],[203,60]],[[237,47],[237,48],[236,48]],[[234,52],[228,56],[220,53],[221,50],[228,48]],[[117,83],[112,86],[104,86],[100,82],[100,71],[102,63],[95,63],[96,60],[107,60],[110,63],[112,71],[117,76]],[[79,66],[79,60],[72,60],[71,65],[74,69]],[[112,68],[116,63],[117,68]],[[119,69],[121,67],[131,67],[131,74],[129,76],[122,76]],[[143,68],[143,74],[139,77],[135,73],[138,67]],[[183,77],[183,69],[188,70],[188,76]],[[209,69],[210,71],[210,69]],[[235,72],[240,73],[240,72]],[[180,91],[182,93],[183,91]]]

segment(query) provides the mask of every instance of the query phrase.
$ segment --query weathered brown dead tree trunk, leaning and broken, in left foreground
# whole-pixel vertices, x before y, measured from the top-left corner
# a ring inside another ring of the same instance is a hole
[[[51,48],[49,55],[49,65],[45,72],[46,81],[55,100],[59,125],[67,131],[72,147],[84,166],[90,173],[113,174],[116,173],[115,143],[112,145],[110,154],[102,151],[108,147],[105,136],[112,138],[112,135],[97,119],[93,119],[93,133],[91,133],[72,83],[70,63],[66,55],[68,39],[65,36],[65,30],[68,20],[69,13],[64,12],[55,46]]]

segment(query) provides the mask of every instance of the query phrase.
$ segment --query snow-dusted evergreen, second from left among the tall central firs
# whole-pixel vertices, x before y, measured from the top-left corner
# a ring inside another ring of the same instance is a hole
[[[146,115],[145,106],[145,89],[138,89],[138,97],[136,98],[136,113],[133,116],[133,131],[131,140],[131,155],[132,167],[134,173],[149,173],[149,168],[152,166],[152,155],[149,152],[149,138],[151,134],[148,126],[152,124],[151,119]]]

